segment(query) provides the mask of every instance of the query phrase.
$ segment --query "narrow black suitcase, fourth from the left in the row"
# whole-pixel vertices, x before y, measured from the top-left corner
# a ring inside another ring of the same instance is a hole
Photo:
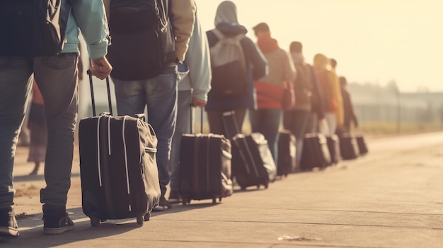
[[[280,131],[278,140],[277,176],[287,176],[296,171],[295,136],[289,130]]]

